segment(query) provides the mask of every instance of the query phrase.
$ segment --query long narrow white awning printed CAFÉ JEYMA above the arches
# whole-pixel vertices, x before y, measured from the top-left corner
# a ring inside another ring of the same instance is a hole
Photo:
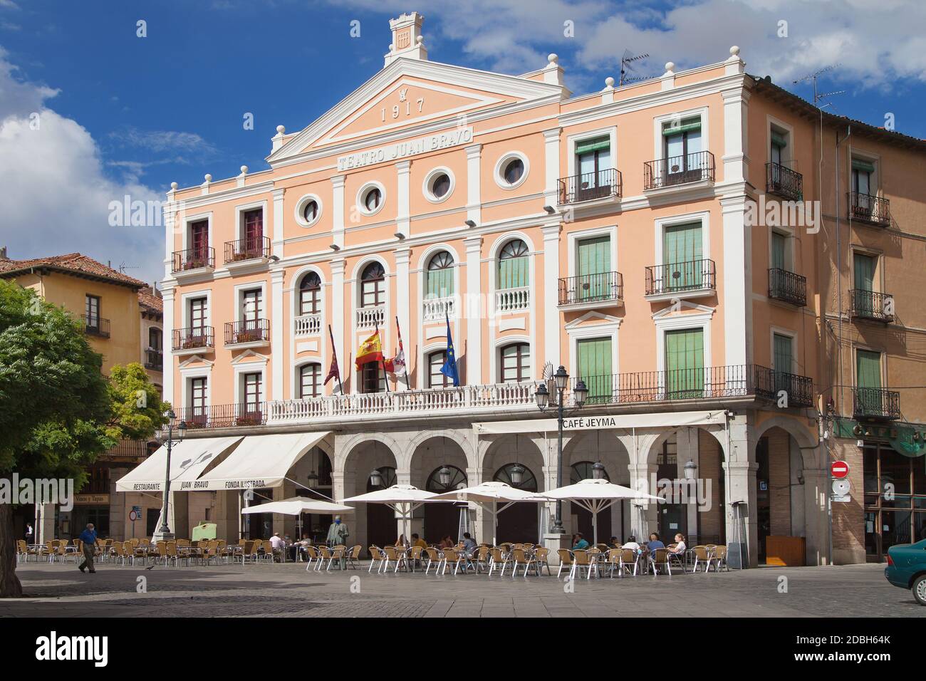
[[[651,414],[619,414],[613,416],[574,415],[564,419],[563,430],[679,428],[684,425],[722,425],[724,422],[723,410],[665,411]],[[497,433],[551,433],[557,431],[557,420],[523,419],[521,421],[475,422],[472,424],[472,427],[477,435],[491,435]]]

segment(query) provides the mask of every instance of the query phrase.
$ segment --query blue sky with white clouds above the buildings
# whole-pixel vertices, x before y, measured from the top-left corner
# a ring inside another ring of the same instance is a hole
[[[159,199],[171,181],[185,186],[206,172],[218,179],[241,165],[265,168],[275,127],[301,129],[380,69],[388,19],[410,9],[425,15],[433,60],[520,73],[557,52],[576,93],[617,77],[625,48],[649,52],[638,71],[657,75],[666,61],[682,68],[716,62],[738,44],[750,73],[770,74],[805,96],[809,87],[793,86],[794,78],[838,64],[820,82],[824,92],[846,91],[829,110],[874,125],[892,113],[898,131],[926,137],[924,6],[0,0],[0,183],[7,190],[0,245],[14,258],[50,247],[81,250],[153,279],[161,273],[162,232],[112,233],[107,196]],[[139,19],[147,37],[136,36]],[[350,36],[354,20],[358,38]],[[24,125],[36,110],[41,136]],[[244,130],[246,112],[254,114],[253,131]],[[49,196],[49,184],[66,183]]]

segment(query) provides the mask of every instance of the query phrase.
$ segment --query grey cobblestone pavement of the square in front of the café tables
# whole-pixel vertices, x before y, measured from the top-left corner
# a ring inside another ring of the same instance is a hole
[[[299,564],[180,568],[19,565],[27,596],[0,616],[49,617],[924,617],[881,565],[760,568],[576,580],[484,574],[307,573]],[[139,577],[145,592],[139,592]],[[782,585],[781,577],[786,577]],[[571,586],[571,589],[569,588]],[[780,589],[786,586],[786,591]]]

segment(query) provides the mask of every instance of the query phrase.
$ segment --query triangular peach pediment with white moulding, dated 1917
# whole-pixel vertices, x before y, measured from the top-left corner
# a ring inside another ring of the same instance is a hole
[[[403,132],[412,136],[459,127],[494,109],[503,113],[532,100],[555,101],[562,92],[551,83],[400,58],[307,128],[287,136],[267,160],[272,165],[324,154],[329,148],[340,151],[401,139]]]

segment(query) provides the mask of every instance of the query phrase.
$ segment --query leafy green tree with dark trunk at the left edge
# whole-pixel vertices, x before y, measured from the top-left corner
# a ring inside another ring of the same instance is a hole
[[[141,365],[114,368],[112,380],[101,367],[67,311],[0,281],[0,477],[73,478],[79,490],[87,464],[119,438],[166,421]],[[0,503],[0,598],[22,594],[15,534],[12,505]]]

